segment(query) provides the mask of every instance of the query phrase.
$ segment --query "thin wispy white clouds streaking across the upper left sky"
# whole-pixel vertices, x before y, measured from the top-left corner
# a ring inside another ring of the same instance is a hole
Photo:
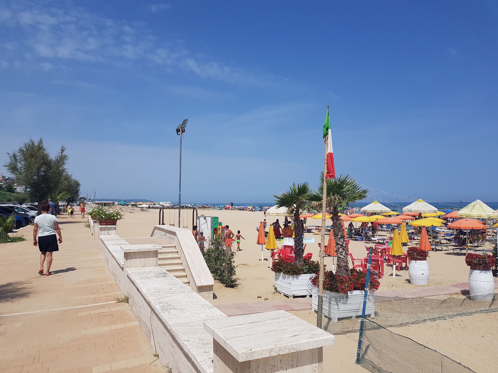
[[[59,8],[16,0],[0,7],[0,27],[13,31],[0,36],[1,67],[48,71],[47,64],[57,68],[62,63],[60,60],[72,60],[125,68],[143,65],[169,73],[183,71],[206,80],[241,86],[263,87],[286,82],[271,74],[193,53],[175,40],[162,41],[144,23],[110,19],[82,7],[57,4]],[[148,7],[160,11],[169,4]]]

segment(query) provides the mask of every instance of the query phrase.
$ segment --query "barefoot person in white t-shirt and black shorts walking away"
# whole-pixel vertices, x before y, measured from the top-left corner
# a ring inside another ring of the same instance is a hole
[[[47,202],[41,204],[41,215],[34,218],[33,228],[33,246],[38,246],[40,249],[40,270],[39,275],[43,275],[43,264],[47,260],[47,273],[45,276],[50,276],[50,267],[52,266],[52,253],[59,251],[57,244],[57,236],[59,235],[59,244],[62,243],[62,234],[57,223],[55,215],[49,214],[50,205]],[[36,237],[38,236],[38,241]]]

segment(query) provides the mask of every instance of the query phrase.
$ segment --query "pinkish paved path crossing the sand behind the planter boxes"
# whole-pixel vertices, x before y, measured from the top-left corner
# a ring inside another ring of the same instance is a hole
[[[498,288],[498,279],[495,279],[495,288]],[[400,289],[390,291],[376,291],[375,301],[387,301],[392,298],[422,298],[437,295],[461,294],[462,290],[469,289],[468,282],[454,283],[442,286],[425,286],[413,289]],[[270,311],[302,311],[311,309],[311,298],[299,297],[282,300],[260,300],[252,303],[231,303],[218,304],[216,307],[227,316],[248,315],[251,313],[270,312]]]

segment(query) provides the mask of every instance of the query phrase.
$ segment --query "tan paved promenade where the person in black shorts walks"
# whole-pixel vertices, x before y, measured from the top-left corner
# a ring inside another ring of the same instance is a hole
[[[0,244],[0,372],[164,372],[99,252],[86,219],[59,218],[64,242],[37,274],[32,227]],[[149,365],[150,364],[150,365]]]

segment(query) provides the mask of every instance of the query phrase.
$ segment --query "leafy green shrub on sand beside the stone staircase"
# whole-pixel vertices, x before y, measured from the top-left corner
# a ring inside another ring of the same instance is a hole
[[[226,287],[237,285],[234,253],[232,250],[226,250],[225,241],[221,235],[215,235],[211,238],[209,248],[205,250],[203,255],[215,280],[220,281]]]

